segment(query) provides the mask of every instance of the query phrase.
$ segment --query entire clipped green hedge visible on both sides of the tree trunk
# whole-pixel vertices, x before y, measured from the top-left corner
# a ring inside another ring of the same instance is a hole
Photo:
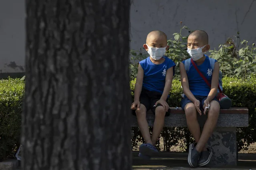
[[[131,81],[130,85],[131,90],[134,90],[135,80]],[[249,109],[249,127],[239,128],[237,133],[238,150],[246,149],[248,144],[256,142],[256,76],[246,81],[225,77],[223,87],[224,92],[232,99],[233,107],[248,107]],[[171,97],[168,101],[170,106],[180,107],[181,93],[181,83],[174,79]],[[13,155],[14,150],[20,144],[23,97],[24,81],[20,79],[0,80],[0,160]],[[183,140],[184,145],[193,140],[186,128],[165,128],[161,136],[164,138],[164,150],[166,151],[171,146],[177,145],[178,140]],[[139,130],[132,141],[134,147],[137,142],[142,141]]]

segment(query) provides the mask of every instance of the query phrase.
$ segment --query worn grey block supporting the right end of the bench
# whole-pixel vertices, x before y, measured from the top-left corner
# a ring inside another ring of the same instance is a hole
[[[213,151],[209,166],[236,166],[236,127],[218,127],[208,140]]]

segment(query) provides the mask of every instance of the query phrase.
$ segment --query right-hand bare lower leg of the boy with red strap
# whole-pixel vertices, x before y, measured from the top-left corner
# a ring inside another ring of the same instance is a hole
[[[210,102],[210,109],[208,111],[208,117],[207,117],[206,123],[204,124],[204,128],[203,128],[200,140],[198,141],[198,144],[196,145],[196,150],[198,150],[199,152],[201,152],[204,149],[208,139],[212,135],[212,132],[214,131],[214,128],[216,127],[219,114],[220,114],[220,104],[218,101],[212,100]]]

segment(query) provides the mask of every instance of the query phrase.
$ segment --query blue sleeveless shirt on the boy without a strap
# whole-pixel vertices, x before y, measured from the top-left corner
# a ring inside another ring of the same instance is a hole
[[[168,57],[164,57],[165,61],[161,64],[154,64],[150,57],[140,61],[140,65],[144,71],[142,88],[149,91],[157,91],[163,94],[165,86],[165,75],[169,68],[173,67],[173,75],[175,63]]]

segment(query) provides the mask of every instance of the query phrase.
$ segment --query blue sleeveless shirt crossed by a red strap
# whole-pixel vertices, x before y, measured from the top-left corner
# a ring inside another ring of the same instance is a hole
[[[216,62],[217,60],[215,60],[215,63]],[[182,61],[182,63],[185,65],[185,60]],[[197,66],[198,66],[198,69],[202,72],[202,74],[206,77],[206,79],[211,84],[213,70],[210,64],[209,57],[206,55],[206,59],[204,60],[204,63]],[[187,79],[189,84],[189,90],[193,95],[208,96],[211,89],[206,84],[204,79],[198,74],[195,67],[192,65],[191,61],[190,61],[189,71],[187,71]]]

